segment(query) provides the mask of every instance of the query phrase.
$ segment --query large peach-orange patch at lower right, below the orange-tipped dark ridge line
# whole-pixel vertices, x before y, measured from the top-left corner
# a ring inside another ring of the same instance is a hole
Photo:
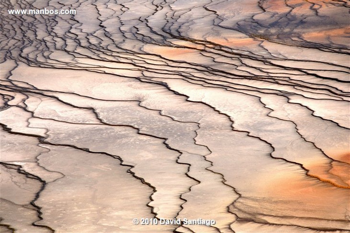
[[[302,174],[290,174],[275,176],[265,180],[264,191],[271,198],[278,200],[293,200],[304,205],[296,216],[303,216],[309,208],[317,209],[318,218],[344,219],[346,206],[350,206],[350,189],[340,188],[327,182],[318,181]]]

